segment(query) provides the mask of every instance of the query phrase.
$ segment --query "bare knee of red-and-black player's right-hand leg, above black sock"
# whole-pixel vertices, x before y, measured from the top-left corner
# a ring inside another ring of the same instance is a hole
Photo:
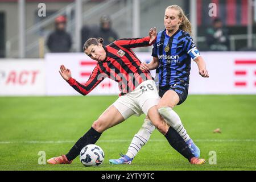
[[[164,119],[160,117],[156,106],[152,106],[148,110],[147,116],[148,118],[150,118],[150,121],[153,123],[156,129],[160,131],[160,133],[162,133],[163,135],[167,133],[170,126],[168,126]]]

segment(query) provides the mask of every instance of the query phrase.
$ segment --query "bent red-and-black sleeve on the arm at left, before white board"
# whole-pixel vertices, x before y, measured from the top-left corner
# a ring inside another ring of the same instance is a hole
[[[104,74],[102,74],[104,75]],[[104,80],[104,76],[101,76],[100,68],[98,65],[93,69],[92,74],[90,75],[88,81],[85,84],[80,84],[80,82],[76,81],[75,78],[69,78],[67,81],[69,85],[73,87],[77,92],[81,93],[83,96],[86,96],[90,93],[102,80]]]

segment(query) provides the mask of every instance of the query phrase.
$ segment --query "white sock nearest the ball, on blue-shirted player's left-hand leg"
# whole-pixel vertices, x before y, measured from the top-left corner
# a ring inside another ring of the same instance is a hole
[[[139,150],[141,150],[141,147],[147,143],[154,130],[155,126],[151,123],[150,119],[144,119],[141,129],[134,135],[133,140],[131,140],[126,155],[129,156],[129,158],[134,158]]]

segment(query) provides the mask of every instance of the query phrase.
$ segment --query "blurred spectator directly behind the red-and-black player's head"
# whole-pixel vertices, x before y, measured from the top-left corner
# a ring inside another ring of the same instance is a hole
[[[104,45],[108,45],[118,39],[117,32],[112,30],[112,21],[109,15],[103,15],[100,19],[100,28],[96,38],[103,38]]]

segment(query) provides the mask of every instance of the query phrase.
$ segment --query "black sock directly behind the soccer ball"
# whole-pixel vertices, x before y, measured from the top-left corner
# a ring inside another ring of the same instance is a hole
[[[75,159],[79,156],[80,151],[88,144],[94,144],[101,137],[101,133],[94,130],[93,127],[87,131],[84,136],[82,136],[79,140],[77,140],[76,144],[71,148],[71,150],[66,154],[69,161]]]

